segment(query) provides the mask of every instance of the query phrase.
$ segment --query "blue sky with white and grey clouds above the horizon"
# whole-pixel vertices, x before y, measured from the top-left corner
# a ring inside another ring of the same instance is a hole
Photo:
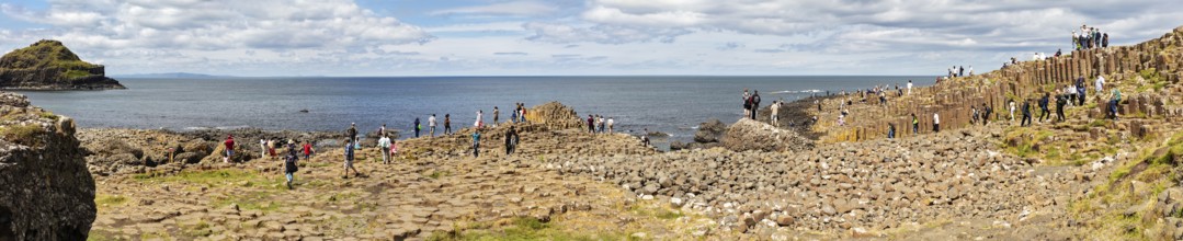
[[[0,0],[108,74],[939,76],[1183,26],[1175,0]]]

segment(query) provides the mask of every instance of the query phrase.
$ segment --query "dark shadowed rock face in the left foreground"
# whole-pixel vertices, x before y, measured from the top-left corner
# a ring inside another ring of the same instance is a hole
[[[95,180],[73,119],[0,92],[0,240],[85,240]]]

